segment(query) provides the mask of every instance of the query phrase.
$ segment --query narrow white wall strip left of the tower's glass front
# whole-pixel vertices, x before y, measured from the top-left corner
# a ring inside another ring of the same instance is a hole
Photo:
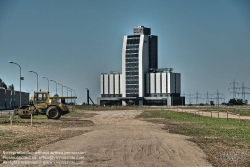
[[[127,45],[127,36],[123,38],[123,46],[122,46],[122,97],[126,97],[126,45]]]

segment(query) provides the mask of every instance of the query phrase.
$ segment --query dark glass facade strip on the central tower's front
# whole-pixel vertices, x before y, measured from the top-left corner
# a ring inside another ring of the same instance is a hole
[[[126,45],[126,97],[139,96],[139,52],[140,35],[129,35]]]

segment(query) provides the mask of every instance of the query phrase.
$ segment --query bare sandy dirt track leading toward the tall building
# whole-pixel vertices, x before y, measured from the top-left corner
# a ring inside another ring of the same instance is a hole
[[[84,164],[81,166],[90,167],[212,166],[206,161],[202,150],[186,140],[188,137],[170,134],[162,129],[161,124],[135,119],[140,111],[89,113],[97,114],[87,118],[92,120],[95,126],[62,129],[89,130],[88,133],[44,146],[39,151],[85,152]]]

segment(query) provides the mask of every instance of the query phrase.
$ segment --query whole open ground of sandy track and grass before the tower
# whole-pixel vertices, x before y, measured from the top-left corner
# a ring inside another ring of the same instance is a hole
[[[244,166],[250,163],[249,113],[247,106],[84,105],[59,120],[0,115],[0,166]]]

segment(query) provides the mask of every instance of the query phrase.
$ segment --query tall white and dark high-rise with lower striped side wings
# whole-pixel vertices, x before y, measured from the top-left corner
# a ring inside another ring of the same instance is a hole
[[[124,36],[122,73],[101,74],[100,105],[184,105],[181,74],[158,69],[158,37],[150,28],[134,28]]]

